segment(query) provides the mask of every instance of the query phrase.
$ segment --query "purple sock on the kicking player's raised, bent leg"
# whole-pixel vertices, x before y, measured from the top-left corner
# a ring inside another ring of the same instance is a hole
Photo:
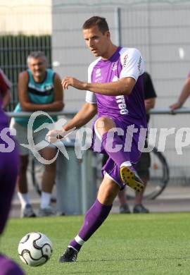
[[[104,133],[102,136],[103,148],[109,157],[113,159],[113,161],[120,167],[123,162],[130,160],[129,152],[124,152],[124,142],[118,135],[116,135],[116,133],[111,139],[107,138],[107,136],[108,133]],[[112,150],[115,148],[115,145],[122,145],[122,149],[120,149],[118,152],[112,152]]]

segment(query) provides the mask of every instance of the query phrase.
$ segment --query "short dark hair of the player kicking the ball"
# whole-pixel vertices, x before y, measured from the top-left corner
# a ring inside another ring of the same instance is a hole
[[[87,21],[84,22],[82,29],[87,30],[90,27],[98,26],[99,30],[103,33],[109,30],[108,23],[106,22],[106,18],[100,16],[92,16]]]

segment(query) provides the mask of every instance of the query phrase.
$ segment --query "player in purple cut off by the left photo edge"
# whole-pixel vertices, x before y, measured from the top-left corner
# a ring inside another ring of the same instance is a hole
[[[7,133],[8,118],[2,109],[2,106],[5,107],[8,104],[8,99],[10,99],[10,88],[11,82],[0,70],[0,234],[3,233],[8,219],[18,173],[18,150],[13,137]],[[1,254],[0,274],[24,275],[15,262]]]

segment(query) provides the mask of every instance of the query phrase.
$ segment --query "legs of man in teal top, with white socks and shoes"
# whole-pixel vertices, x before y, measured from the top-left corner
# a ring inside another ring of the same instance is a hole
[[[18,198],[21,203],[21,217],[34,217],[36,214],[32,209],[32,205],[30,203],[30,198],[28,195],[27,188],[27,166],[29,159],[29,150],[23,147],[21,144],[28,144],[29,140],[27,137],[27,128],[20,126],[19,123],[15,121],[11,121],[11,128],[15,128],[16,130],[16,139],[19,144],[20,151],[20,169],[17,178],[17,186],[18,186]],[[42,140],[45,140],[47,130],[42,129],[37,133],[32,133],[33,140],[35,146]],[[38,149],[37,147],[35,149]],[[48,146],[44,147],[39,151],[42,157],[46,160],[51,160],[56,156],[56,147]],[[53,189],[53,185],[56,178],[56,161],[52,164],[45,165],[44,174],[42,176],[42,198],[41,205],[39,209],[39,216],[52,216],[55,215],[55,210],[50,206],[51,201],[51,193]]]

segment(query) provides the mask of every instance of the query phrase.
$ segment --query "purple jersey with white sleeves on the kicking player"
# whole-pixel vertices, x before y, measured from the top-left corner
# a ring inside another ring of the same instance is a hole
[[[88,70],[89,82],[114,82],[120,78],[134,78],[136,84],[129,95],[108,96],[87,91],[86,101],[98,106],[98,116],[117,118],[126,125],[146,128],[144,107],[144,61],[137,49],[118,47],[108,60],[101,57]]]

